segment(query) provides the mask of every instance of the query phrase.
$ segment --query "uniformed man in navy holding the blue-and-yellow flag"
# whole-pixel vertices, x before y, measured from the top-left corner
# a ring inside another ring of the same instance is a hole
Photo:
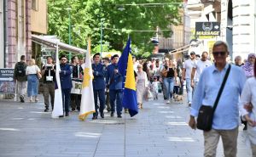
[[[107,73],[106,73],[106,84],[107,84],[107,88],[109,88],[110,105],[111,105],[110,116],[113,117],[114,115],[115,101],[116,101],[117,116],[118,118],[122,118],[123,76],[119,73],[119,70],[118,70],[119,55],[114,54],[111,60],[112,60],[112,64],[108,65]]]

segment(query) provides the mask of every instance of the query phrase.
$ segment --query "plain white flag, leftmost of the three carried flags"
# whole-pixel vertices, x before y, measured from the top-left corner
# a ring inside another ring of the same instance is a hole
[[[63,105],[62,105],[62,94],[61,94],[61,81],[60,81],[60,61],[59,61],[59,48],[57,44],[56,49],[56,72],[55,72],[55,105],[54,110],[51,113],[52,118],[59,118],[60,115],[63,115]]]

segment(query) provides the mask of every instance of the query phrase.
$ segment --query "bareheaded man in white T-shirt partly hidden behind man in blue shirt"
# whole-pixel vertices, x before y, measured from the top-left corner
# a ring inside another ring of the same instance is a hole
[[[193,65],[193,69],[191,72],[191,87],[195,90],[195,87],[197,85],[197,82],[199,81],[199,77],[201,75],[201,72],[207,68],[208,66],[211,66],[212,63],[210,60],[208,60],[208,53],[205,51],[201,54],[201,59],[197,61],[196,64]]]

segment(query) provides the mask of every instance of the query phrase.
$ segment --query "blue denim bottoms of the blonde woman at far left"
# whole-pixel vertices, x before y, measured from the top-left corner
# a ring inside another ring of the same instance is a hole
[[[38,96],[38,76],[30,74],[27,76],[27,96]]]

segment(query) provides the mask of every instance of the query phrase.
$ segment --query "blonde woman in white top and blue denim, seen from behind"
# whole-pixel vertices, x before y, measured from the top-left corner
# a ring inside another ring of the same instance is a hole
[[[35,102],[38,102],[38,80],[41,76],[41,71],[36,65],[35,59],[30,59],[29,64],[26,67],[27,76],[27,96],[32,102],[32,97],[35,98]]]

